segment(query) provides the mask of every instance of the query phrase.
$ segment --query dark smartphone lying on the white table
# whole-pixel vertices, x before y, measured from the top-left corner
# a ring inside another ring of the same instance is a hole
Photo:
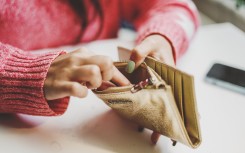
[[[207,73],[205,80],[245,95],[245,71],[242,69],[215,63]]]

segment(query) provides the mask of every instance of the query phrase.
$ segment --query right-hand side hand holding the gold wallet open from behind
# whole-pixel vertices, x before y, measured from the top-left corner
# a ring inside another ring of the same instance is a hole
[[[170,66],[175,66],[172,47],[169,41],[161,35],[154,34],[146,37],[133,49],[130,60],[134,61],[135,66],[138,67],[146,56],[151,56]],[[160,134],[153,131],[151,142],[156,144],[159,137]]]

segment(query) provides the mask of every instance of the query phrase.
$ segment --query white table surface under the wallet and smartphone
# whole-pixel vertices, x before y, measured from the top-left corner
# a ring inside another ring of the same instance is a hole
[[[131,48],[133,44],[117,39],[87,47],[117,60],[118,45]],[[137,125],[122,119],[90,92],[85,99],[72,97],[68,110],[59,117],[0,114],[0,152],[244,153],[245,96],[204,82],[217,61],[245,69],[245,34],[231,24],[201,27],[177,63],[179,69],[195,76],[203,137],[198,149],[180,143],[173,147],[164,136],[156,146],[151,145],[150,130],[138,133]]]

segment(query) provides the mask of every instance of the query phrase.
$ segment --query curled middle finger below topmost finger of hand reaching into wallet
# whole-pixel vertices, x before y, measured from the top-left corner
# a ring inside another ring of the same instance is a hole
[[[74,67],[71,73],[72,81],[87,82],[88,88],[98,88],[102,83],[100,68],[97,65]]]

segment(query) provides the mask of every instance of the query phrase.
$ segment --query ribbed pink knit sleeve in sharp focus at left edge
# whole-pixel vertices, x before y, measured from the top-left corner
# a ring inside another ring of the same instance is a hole
[[[50,64],[63,53],[33,55],[0,42],[0,113],[63,114],[69,97],[47,101],[43,92]]]

